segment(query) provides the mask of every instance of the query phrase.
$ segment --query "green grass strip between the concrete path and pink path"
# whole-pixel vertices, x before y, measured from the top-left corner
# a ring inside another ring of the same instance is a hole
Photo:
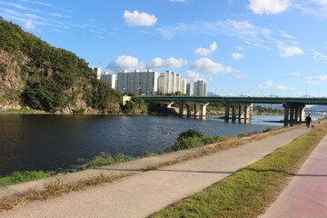
[[[322,124],[263,160],[152,217],[257,217],[282,192],[326,134],[327,124]]]

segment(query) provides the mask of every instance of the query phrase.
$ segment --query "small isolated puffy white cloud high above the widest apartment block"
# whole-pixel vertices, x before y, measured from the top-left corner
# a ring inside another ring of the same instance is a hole
[[[124,11],[124,22],[127,25],[144,25],[144,26],[151,26],[155,25],[158,18],[154,15],[149,15],[147,13],[139,13],[138,11],[129,12]]]

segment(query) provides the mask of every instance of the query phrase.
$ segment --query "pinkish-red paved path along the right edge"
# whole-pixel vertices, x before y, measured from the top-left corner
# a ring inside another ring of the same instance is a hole
[[[261,218],[327,217],[327,136]]]

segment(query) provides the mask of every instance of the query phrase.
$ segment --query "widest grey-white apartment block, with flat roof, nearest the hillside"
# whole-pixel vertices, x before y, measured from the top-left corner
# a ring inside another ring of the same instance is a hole
[[[146,72],[123,71],[117,74],[116,89],[122,93],[154,95],[158,89],[159,73],[152,70]]]

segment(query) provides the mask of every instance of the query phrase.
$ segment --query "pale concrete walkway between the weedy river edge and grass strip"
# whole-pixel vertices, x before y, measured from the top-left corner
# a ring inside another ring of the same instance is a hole
[[[297,128],[113,183],[28,203],[0,213],[0,217],[147,217],[263,159],[309,131],[305,127]]]

